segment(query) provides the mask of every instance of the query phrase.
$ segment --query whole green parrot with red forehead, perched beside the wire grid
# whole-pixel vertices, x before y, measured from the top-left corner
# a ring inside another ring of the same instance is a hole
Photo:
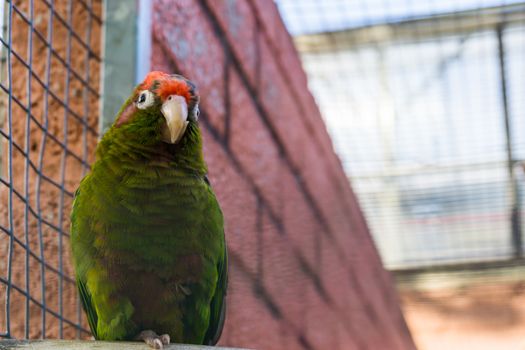
[[[228,260],[198,103],[186,78],[150,72],[75,193],[73,263],[95,339],[159,349],[220,337]]]

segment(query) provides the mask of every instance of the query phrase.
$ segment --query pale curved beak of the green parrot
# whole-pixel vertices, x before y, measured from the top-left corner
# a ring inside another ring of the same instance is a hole
[[[170,95],[161,107],[162,115],[166,119],[167,128],[162,130],[162,141],[177,143],[184,135],[188,126],[188,104],[186,99],[179,95]]]

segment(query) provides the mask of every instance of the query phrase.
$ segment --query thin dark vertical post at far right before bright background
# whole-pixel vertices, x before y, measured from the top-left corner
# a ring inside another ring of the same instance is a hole
[[[505,65],[505,45],[503,42],[504,24],[496,27],[496,34],[498,37],[498,53],[499,53],[499,68],[500,68],[500,82],[501,82],[501,98],[503,104],[503,116],[505,118],[505,139],[507,144],[507,168],[509,172],[509,189],[511,202],[511,230],[512,230],[512,246],[514,248],[514,257],[523,257],[523,246],[521,237],[521,208],[518,193],[518,182],[516,179],[516,172],[514,167],[514,158],[512,156],[512,135],[510,132],[510,117],[509,117],[509,102],[507,94],[507,79],[506,79],[506,65]]]

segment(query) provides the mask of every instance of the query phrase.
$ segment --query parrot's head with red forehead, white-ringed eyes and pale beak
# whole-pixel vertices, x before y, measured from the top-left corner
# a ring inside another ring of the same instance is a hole
[[[195,85],[177,74],[150,72],[123,106],[115,128],[127,129],[130,137],[144,137],[177,144],[188,125],[199,117]]]

